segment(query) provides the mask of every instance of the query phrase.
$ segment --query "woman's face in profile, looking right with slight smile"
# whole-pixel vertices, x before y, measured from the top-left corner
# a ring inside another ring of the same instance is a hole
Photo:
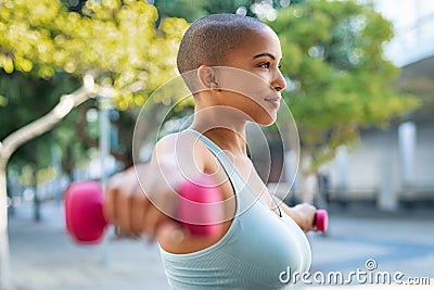
[[[276,121],[281,90],[286,83],[279,70],[280,41],[270,28],[253,31],[228,55],[227,66],[216,70],[221,89],[220,104],[248,115],[253,122],[270,125]]]

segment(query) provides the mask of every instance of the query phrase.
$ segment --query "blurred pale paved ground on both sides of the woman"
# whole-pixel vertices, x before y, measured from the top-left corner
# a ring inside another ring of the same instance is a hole
[[[369,272],[368,260],[376,263],[372,273],[401,272],[403,279],[434,278],[434,218],[429,212],[333,212],[327,237],[308,235],[314,253],[310,273],[317,279],[321,273],[341,272],[347,277],[350,272]],[[10,218],[10,243],[13,280],[20,290],[168,289],[155,243],[108,238],[105,248],[77,245],[64,230],[63,210],[53,204],[43,205],[39,224],[31,222],[30,209],[18,209]],[[334,289],[315,282],[312,276],[312,285],[299,283],[296,289]],[[350,289],[434,289],[434,280],[430,283],[397,288],[360,285],[353,277]]]

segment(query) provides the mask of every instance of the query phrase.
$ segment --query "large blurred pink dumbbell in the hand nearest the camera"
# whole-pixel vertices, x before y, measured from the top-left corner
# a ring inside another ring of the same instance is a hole
[[[224,220],[221,194],[212,177],[202,175],[196,182],[184,181],[178,193],[177,217],[193,235],[212,236]],[[69,235],[79,243],[98,243],[107,222],[103,215],[103,192],[99,182],[75,182],[65,192],[65,217]]]

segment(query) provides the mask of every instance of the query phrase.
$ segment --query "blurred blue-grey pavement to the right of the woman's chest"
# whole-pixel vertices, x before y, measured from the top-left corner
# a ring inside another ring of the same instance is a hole
[[[353,276],[353,285],[358,285],[354,290],[367,287],[384,289],[386,286],[380,288],[375,279],[384,283],[386,278],[393,281],[394,275],[403,285],[391,286],[391,289],[416,290],[420,289],[414,288],[418,282],[429,282],[431,287],[425,286],[423,289],[434,289],[433,222],[434,218],[427,212],[399,212],[387,216],[368,211],[332,215],[328,237],[320,239],[312,236],[310,239],[314,255],[310,272],[341,272],[344,279],[352,272],[367,273],[366,278],[360,277],[361,281],[367,279],[365,285],[358,282],[356,275]]]

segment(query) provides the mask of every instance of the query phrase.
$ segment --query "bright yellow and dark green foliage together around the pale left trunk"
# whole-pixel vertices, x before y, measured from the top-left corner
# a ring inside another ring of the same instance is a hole
[[[177,74],[175,58],[188,26],[184,20],[165,18],[156,29],[156,9],[145,0],[89,0],[74,8],[62,2],[0,1],[1,139],[47,113],[61,94],[82,86],[86,73],[97,76],[97,88],[108,88],[120,110],[142,105],[155,88]],[[125,89],[138,83],[141,90]],[[71,163],[72,152],[82,153],[86,148],[76,134],[77,118],[82,115],[81,109],[73,112],[62,126],[22,147],[13,162],[44,166],[55,144],[62,148],[64,164]],[[130,133],[122,141],[126,146],[131,143],[133,128],[128,124],[129,128],[119,129]]]

